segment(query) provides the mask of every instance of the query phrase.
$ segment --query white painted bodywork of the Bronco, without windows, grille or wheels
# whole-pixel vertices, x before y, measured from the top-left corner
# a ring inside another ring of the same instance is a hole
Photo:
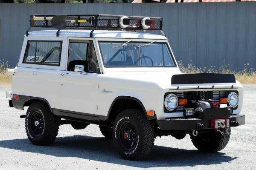
[[[146,41],[157,39],[167,42],[166,37],[137,32],[94,32],[89,38],[90,31],[61,31],[56,37],[56,31],[37,31],[29,33],[24,38],[20,61],[15,68],[12,79],[12,94],[35,96],[46,99],[50,107],[70,110],[74,112],[90,113],[107,116],[112,102],[119,96],[130,96],[140,100],[146,110],[154,110],[157,119],[181,117],[183,112],[165,113],[163,108],[166,92],[237,90],[239,92],[239,114],[243,102],[243,87],[236,81],[233,84],[171,84],[172,75],[182,74],[178,67],[151,67],[151,68],[106,68],[103,66],[99,52],[99,40]],[[68,37],[74,38],[68,38]],[[82,75],[79,72],[67,72],[68,39],[93,40],[99,67],[103,74]],[[62,40],[60,66],[44,66],[25,64],[23,56],[27,40]],[[169,43],[168,43],[169,45]],[[170,47],[169,47],[170,48]],[[170,48],[171,49],[171,48]],[[172,54],[173,55],[173,54]],[[173,55],[174,56],[174,55]],[[176,63],[176,61],[175,61]],[[177,63],[176,63],[177,65]],[[214,89],[207,89],[214,85]],[[199,86],[199,89],[198,89]],[[235,89],[232,89],[232,86]]]

